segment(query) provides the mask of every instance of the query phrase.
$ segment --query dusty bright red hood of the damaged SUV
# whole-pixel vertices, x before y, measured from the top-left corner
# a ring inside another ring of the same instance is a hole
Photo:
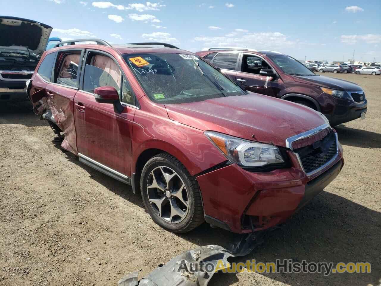
[[[288,137],[325,124],[311,108],[257,93],[165,107],[181,124],[283,147]]]

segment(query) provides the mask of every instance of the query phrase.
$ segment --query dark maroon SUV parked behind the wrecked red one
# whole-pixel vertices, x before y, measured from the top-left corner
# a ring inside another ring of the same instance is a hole
[[[367,100],[359,85],[319,76],[290,56],[247,48],[210,48],[196,54],[243,88],[320,111],[332,126],[365,118]]]

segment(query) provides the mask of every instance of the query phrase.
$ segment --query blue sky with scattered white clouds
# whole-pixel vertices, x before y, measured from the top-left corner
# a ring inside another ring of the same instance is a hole
[[[381,61],[381,0],[4,1],[1,14],[52,26],[63,40],[166,42],[275,50],[296,59]]]

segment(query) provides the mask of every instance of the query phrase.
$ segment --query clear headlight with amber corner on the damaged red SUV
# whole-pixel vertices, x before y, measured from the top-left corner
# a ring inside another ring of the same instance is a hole
[[[284,162],[277,146],[256,143],[213,131],[204,133],[233,163],[247,167],[260,167]]]

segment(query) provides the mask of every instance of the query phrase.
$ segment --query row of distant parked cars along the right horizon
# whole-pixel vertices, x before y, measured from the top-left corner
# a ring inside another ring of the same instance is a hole
[[[381,67],[379,66],[361,66],[353,64],[305,64],[310,71],[319,72],[333,72],[333,73],[351,73],[356,74],[371,74],[373,76],[381,74]]]

